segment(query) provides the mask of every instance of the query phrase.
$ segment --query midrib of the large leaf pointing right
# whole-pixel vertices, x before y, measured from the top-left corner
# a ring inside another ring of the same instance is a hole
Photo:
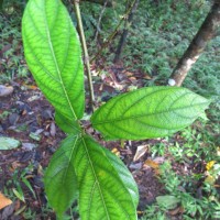
[[[119,121],[124,121],[124,120],[138,119],[138,118],[142,118],[142,117],[156,116],[156,114],[167,113],[167,112],[172,112],[172,111],[176,111],[176,110],[188,109],[190,107],[204,106],[204,105],[207,105],[207,103],[209,103],[209,101],[200,102],[200,103],[197,103],[197,105],[191,105],[191,106],[188,106],[188,107],[175,108],[175,109],[172,109],[172,110],[158,111],[158,112],[146,113],[146,114],[138,114],[138,116],[124,117],[124,118],[122,116],[118,116],[118,118],[106,120],[106,121],[100,121],[100,122],[92,122],[92,124],[99,125],[99,124],[105,124],[105,123],[112,123],[112,122],[119,122]],[[96,121],[96,119],[95,119],[95,121]]]

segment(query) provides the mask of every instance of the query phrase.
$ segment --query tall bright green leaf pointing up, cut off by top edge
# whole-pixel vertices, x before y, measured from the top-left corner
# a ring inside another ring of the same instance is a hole
[[[61,0],[29,0],[22,20],[24,54],[38,87],[63,116],[84,114],[80,42]]]

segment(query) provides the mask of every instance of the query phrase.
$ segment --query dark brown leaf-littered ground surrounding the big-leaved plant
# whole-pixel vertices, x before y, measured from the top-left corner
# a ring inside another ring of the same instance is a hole
[[[96,66],[92,67],[92,75],[99,103],[119,92],[142,87],[144,77],[145,80],[150,79],[150,76],[123,69],[122,65],[106,69],[108,75],[99,75],[95,69]],[[0,189],[13,200],[12,205],[0,211],[0,219],[33,219],[33,216],[36,220],[55,219],[53,210],[47,206],[43,173],[65,134],[55,125],[54,110],[32,77],[25,80],[18,79],[12,82],[12,86],[13,94],[1,97],[0,136],[19,140],[21,144],[14,150],[0,151]],[[195,123],[194,127],[199,128],[200,122]],[[169,161],[173,169],[179,175],[199,174],[206,170],[202,161],[179,164],[170,153],[165,153],[163,156],[152,155],[151,146],[163,144],[165,147],[170,143],[184,142],[178,133],[169,141],[156,139],[124,143],[105,142],[98,133],[95,133],[95,136],[103,146],[120,156],[132,172],[140,190],[138,208],[140,217],[143,216],[146,206],[155,202],[157,196],[166,194],[164,184],[160,182],[161,164]],[[197,185],[199,191],[201,183],[198,182]],[[183,212],[183,208],[178,205],[166,215],[170,219],[182,219]]]

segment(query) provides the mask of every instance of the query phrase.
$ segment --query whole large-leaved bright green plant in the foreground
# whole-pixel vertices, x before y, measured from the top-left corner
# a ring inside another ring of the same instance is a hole
[[[50,205],[59,219],[75,199],[80,219],[134,220],[136,184],[118,156],[89,136],[79,37],[61,0],[29,0],[22,20],[25,59],[57,125],[67,134],[45,172]],[[169,135],[193,123],[209,101],[185,88],[148,87],[110,99],[91,116],[108,140]]]

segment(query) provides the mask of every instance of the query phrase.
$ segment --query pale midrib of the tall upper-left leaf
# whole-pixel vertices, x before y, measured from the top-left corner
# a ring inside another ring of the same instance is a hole
[[[57,7],[59,7],[59,6],[57,6]],[[53,59],[54,59],[54,64],[56,66],[56,70],[57,70],[57,74],[58,74],[58,78],[59,78],[59,81],[61,81],[61,85],[62,85],[62,89],[63,89],[64,95],[65,95],[65,97],[67,99],[67,102],[68,102],[68,106],[70,108],[70,111],[72,111],[74,118],[77,119],[76,113],[75,113],[75,111],[74,111],[74,109],[72,107],[72,102],[69,100],[68,94],[67,94],[67,91],[65,89],[65,86],[64,86],[64,82],[63,82],[63,79],[62,79],[62,73],[61,73],[61,69],[59,69],[57,61],[56,61],[56,55],[54,53],[54,47],[53,47],[53,43],[52,43],[52,38],[51,38],[51,32],[50,32],[50,29],[48,29],[48,22],[47,22],[47,18],[46,18],[45,4],[44,4],[44,12],[45,12],[44,19],[45,19],[45,24],[46,24],[46,36],[47,36],[47,40],[48,40],[50,51],[52,53],[52,56],[53,56]]]

